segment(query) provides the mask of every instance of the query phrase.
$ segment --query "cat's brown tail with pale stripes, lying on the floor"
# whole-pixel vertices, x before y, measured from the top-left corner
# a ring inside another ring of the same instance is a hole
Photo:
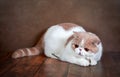
[[[39,55],[43,53],[44,51],[43,47],[44,47],[44,42],[43,42],[43,37],[42,37],[37,43],[37,45],[35,45],[34,47],[23,48],[23,49],[18,49],[14,51],[14,53],[12,54],[12,58]]]

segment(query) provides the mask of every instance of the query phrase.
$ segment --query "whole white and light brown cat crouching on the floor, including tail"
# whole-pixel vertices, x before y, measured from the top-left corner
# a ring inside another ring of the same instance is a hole
[[[60,23],[48,28],[34,47],[16,50],[12,58],[44,53],[50,58],[89,66],[97,64],[102,51],[102,42],[96,34],[74,23]]]

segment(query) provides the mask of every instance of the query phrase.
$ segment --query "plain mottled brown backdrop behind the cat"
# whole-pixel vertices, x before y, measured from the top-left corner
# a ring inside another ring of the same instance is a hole
[[[0,53],[33,46],[51,25],[73,22],[120,50],[120,0],[0,0]]]

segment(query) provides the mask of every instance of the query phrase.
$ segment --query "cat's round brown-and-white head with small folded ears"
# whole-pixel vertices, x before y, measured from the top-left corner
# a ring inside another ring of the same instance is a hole
[[[100,39],[90,32],[74,32],[71,43],[74,52],[81,56],[93,56],[99,50]]]

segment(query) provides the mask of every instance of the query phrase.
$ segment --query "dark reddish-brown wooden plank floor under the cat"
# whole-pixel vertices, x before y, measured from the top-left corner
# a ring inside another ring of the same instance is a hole
[[[0,77],[120,77],[120,52],[104,53],[96,66],[81,67],[41,56],[0,58]]]

